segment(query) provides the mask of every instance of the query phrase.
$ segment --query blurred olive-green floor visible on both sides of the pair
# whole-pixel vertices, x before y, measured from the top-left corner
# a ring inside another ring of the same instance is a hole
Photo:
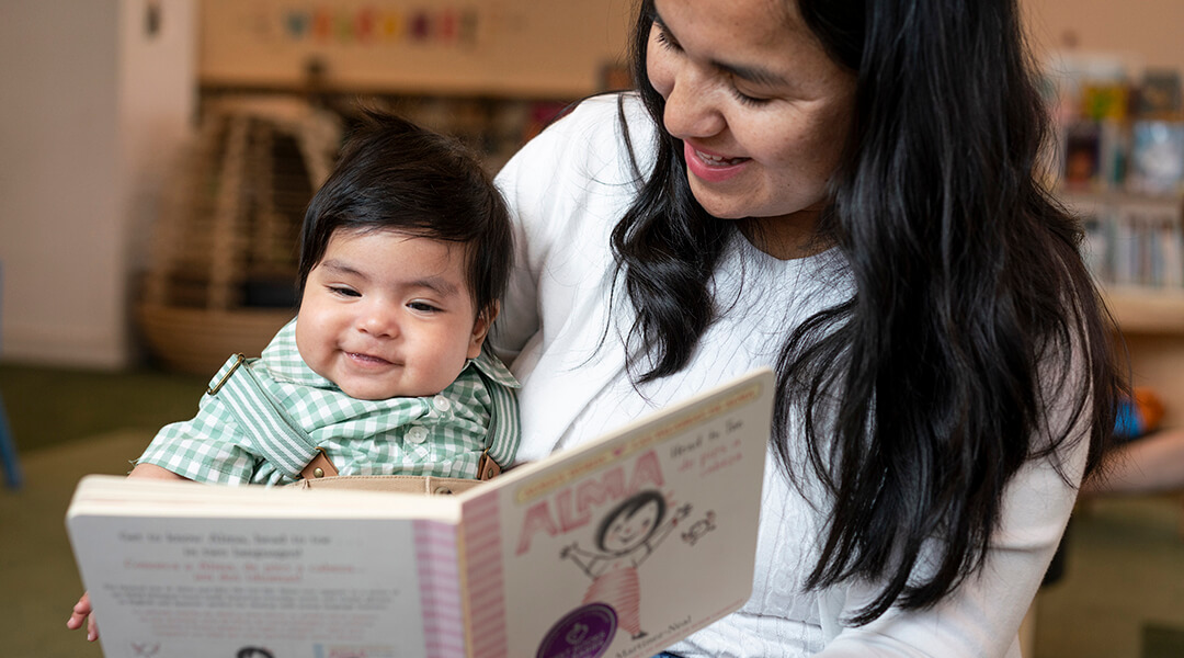
[[[85,473],[122,473],[155,430],[193,414],[202,378],[0,365],[25,486],[0,489],[4,658],[101,656],[65,630],[81,593],[63,518]],[[1066,573],[1037,599],[1035,656],[1184,657],[1178,498],[1105,499],[1077,514]],[[945,658],[945,657],[941,657]]]

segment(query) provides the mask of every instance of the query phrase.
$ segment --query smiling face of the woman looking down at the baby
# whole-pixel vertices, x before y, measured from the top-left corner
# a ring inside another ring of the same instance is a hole
[[[695,199],[757,218],[765,251],[797,256],[851,125],[855,75],[787,0],[656,0],[646,70],[684,144]]]

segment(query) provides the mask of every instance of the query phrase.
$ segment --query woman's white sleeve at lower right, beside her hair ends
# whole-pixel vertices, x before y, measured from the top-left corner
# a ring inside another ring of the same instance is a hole
[[[1034,444],[1044,445],[1047,437],[1067,427],[1068,438],[1053,454],[1030,459],[1008,484],[1002,522],[982,568],[932,608],[893,608],[867,626],[832,630],[828,634],[835,636],[834,640],[817,656],[1019,658],[1019,624],[1068,524],[1088,454],[1092,418],[1088,408],[1079,409],[1074,404],[1080,387],[1088,382],[1081,355],[1074,359],[1068,375],[1061,367],[1042,368],[1047,426]],[[849,586],[830,602],[837,615],[824,613],[823,619],[850,617],[877,589]]]

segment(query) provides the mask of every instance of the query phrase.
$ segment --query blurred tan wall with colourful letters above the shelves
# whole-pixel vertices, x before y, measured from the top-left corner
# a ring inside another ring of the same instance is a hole
[[[324,83],[343,90],[578,98],[597,90],[605,64],[625,57],[633,4],[202,0],[198,67],[210,84],[292,88],[315,58]],[[412,17],[456,19],[465,5],[472,27],[463,37],[407,36]],[[315,36],[320,20],[336,26],[332,36]],[[359,22],[371,27],[361,33]]]

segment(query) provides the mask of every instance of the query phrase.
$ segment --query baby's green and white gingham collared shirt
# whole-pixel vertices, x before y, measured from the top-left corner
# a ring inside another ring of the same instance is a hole
[[[272,338],[262,359],[247,360],[264,388],[279,401],[342,476],[430,475],[472,478],[495,436],[509,454],[519,443],[514,375],[482,353],[437,395],[358,400],[314,373],[296,350],[296,321]],[[224,366],[211,387],[227,368]],[[166,425],[137,463],[220,484],[289,484],[292,478],[264,459],[251,432],[226,404],[202,395],[198,415]]]

